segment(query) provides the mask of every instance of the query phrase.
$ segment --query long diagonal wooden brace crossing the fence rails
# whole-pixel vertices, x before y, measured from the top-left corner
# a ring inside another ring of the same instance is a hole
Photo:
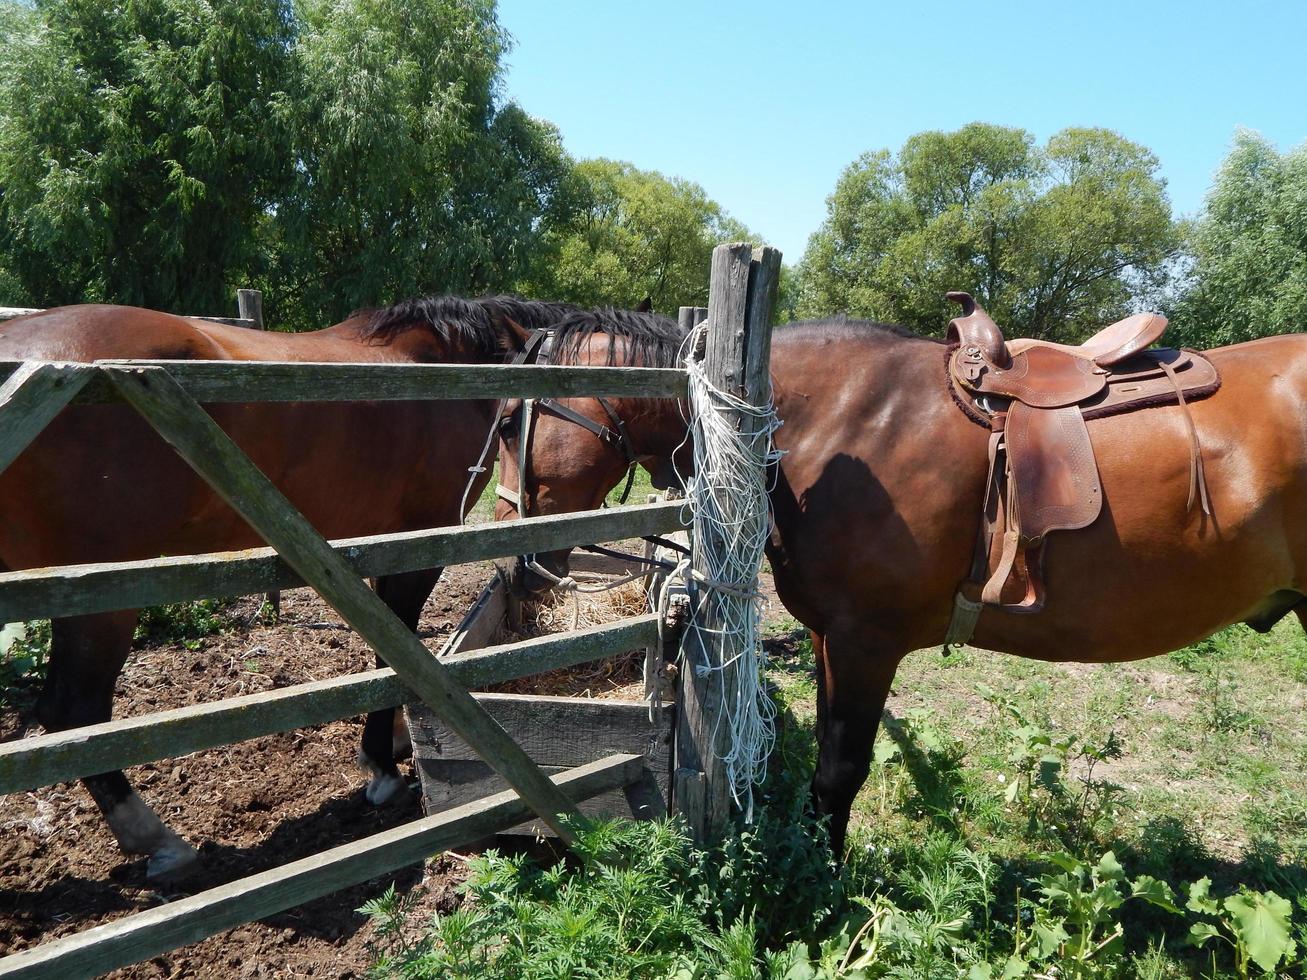
[[[422,642],[367,588],[199,402],[162,367],[102,366],[99,370],[178,455],[277,550],[286,564],[318,589],[400,679],[476,749],[550,830],[570,844],[574,835],[559,817],[575,817],[575,804],[451,678]]]

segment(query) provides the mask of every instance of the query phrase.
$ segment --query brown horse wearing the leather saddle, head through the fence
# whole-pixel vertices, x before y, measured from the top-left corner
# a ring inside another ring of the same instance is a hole
[[[612,337],[618,359],[627,349]],[[669,338],[665,346],[670,346]],[[578,351],[596,357],[595,344]],[[840,853],[850,806],[899,661],[940,645],[968,575],[987,480],[988,431],[955,402],[948,348],[882,324],[827,320],[776,331],[771,376],[784,451],[771,494],[769,558],[786,608],[812,630],[819,754],[813,781]],[[606,354],[606,350],[604,350]],[[978,647],[1050,661],[1110,662],[1165,653],[1231,623],[1266,630],[1307,613],[1307,337],[1209,353],[1221,388],[1189,405],[1210,515],[1189,507],[1191,438],[1180,408],[1087,422],[1103,508],[1051,534],[1043,612],[987,608]],[[572,408],[599,417],[593,406]],[[672,402],[629,402],[637,452],[660,456],[685,434]],[[501,453],[516,480],[511,430]],[[664,457],[665,459],[665,457]],[[563,419],[536,419],[531,514],[595,506],[618,460]],[[511,516],[501,504],[499,516]],[[566,574],[566,553],[538,555]],[[545,580],[521,562],[511,584]]]

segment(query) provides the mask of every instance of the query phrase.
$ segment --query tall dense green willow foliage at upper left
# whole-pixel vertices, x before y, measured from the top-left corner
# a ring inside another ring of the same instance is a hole
[[[0,3],[0,302],[278,328],[519,281],[578,206],[491,0]],[[706,274],[706,273],[704,273]]]

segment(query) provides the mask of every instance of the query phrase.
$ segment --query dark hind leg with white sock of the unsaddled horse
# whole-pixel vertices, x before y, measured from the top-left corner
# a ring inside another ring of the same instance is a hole
[[[37,702],[37,720],[47,732],[110,720],[114,682],[127,661],[135,627],[135,612],[54,621],[50,668]],[[105,814],[118,845],[129,855],[149,855],[148,877],[176,877],[195,862],[195,848],[158,818],[122,771],[86,776],[82,785]]]

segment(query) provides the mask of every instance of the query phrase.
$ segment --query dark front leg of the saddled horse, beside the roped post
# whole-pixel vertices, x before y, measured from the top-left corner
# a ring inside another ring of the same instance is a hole
[[[836,860],[844,853],[848,813],[870,771],[872,742],[881,724],[885,699],[902,655],[856,630],[834,629],[818,642],[817,659],[817,772],[813,802],[818,817],[830,817],[830,848]]]

